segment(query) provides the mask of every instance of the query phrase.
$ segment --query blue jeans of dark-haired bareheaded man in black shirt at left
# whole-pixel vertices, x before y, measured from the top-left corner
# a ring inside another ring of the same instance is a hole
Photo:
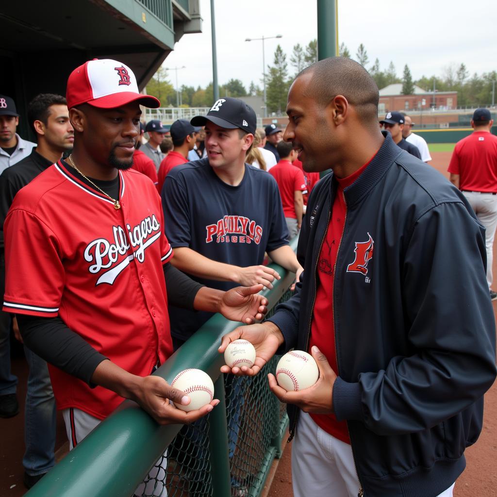
[[[55,464],[56,409],[46,361],[24,347],[29,365],[22,465],[29,475],[46,473]]]

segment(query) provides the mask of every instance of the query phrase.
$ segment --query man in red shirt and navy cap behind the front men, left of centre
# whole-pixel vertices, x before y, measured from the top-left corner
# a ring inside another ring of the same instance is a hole
[[[169,171],[173,167],[189,162],[188,152],[195,147],[197,133],[201,129],[200,127],[192,126],[190,121],[186,119],[178,119],[172,123],[170,133],[174,148],[163,159],[161,167],[159,167],[159,184],[157,185],[159,193],[162,191],[164,180]]]

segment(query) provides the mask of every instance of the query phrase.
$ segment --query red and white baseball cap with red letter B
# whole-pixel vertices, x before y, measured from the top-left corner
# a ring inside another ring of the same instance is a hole
[[[133,71],[112,59],[93,59],[77,67],[69,76],[66,91],[69,108],[89,103],[101,109],[113,109],[139,101],[145,107],[156,109],[161,102],[138,91]]]

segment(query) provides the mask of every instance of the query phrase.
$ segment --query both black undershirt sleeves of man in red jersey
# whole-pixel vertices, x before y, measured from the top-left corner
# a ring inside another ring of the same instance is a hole
[[[164,265],[167,300],[177,307],[193,310],[197,292],[203,285],[193,281],[169,262]],[[106,356],[95,350],[59,318],[17,315],[17,323],[26,347],[90,387],[91,376]]]

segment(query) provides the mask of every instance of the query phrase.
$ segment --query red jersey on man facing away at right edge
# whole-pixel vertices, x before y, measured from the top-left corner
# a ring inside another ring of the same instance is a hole
[[[459,174],[459,189],[497,192],[497,136],[474,131],[456,143],[449,172]]]

